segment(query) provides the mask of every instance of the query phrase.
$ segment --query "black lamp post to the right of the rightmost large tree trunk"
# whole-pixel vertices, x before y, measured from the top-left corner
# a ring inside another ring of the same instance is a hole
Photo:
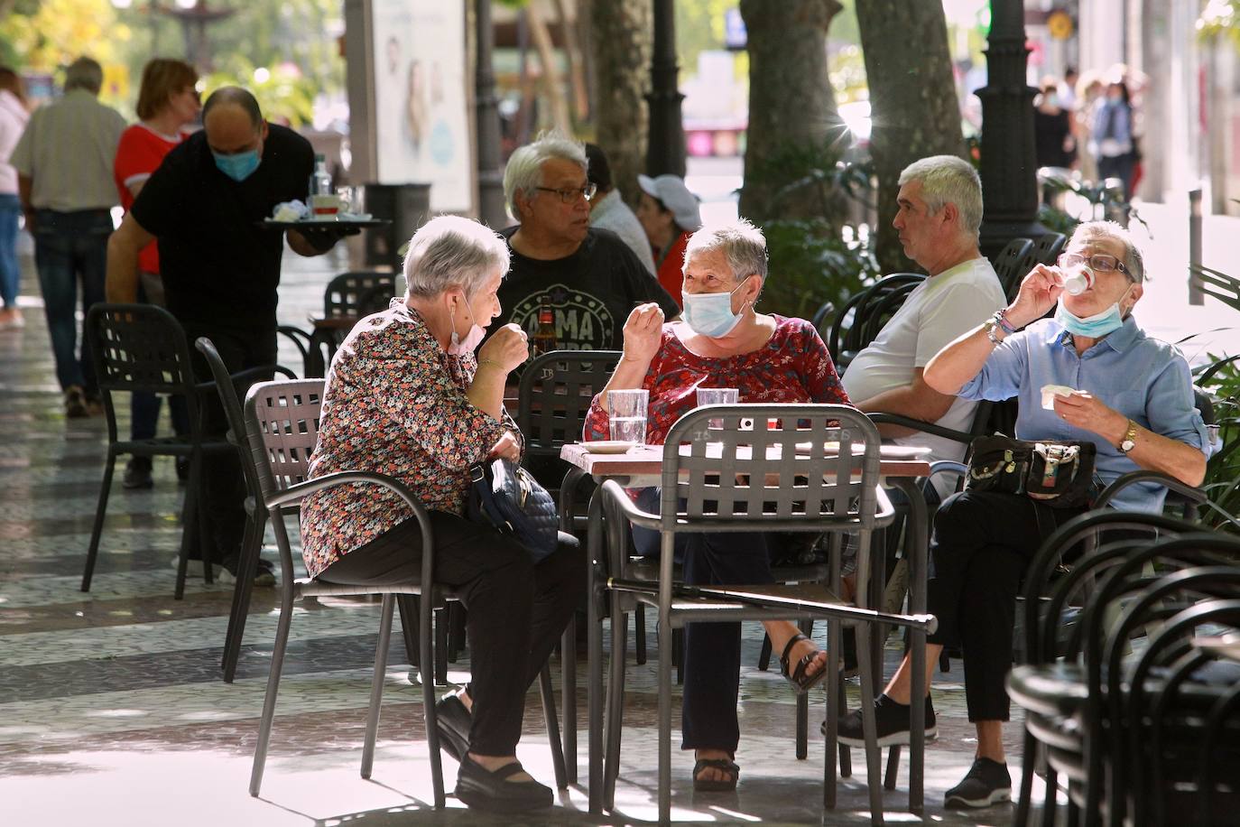
[[[1033,98],[1025,83],[1024,4],[992,0],[982,100],[982,254],[993,258],[1011,239],[1037,238],[1038,165],[1033,143]]]

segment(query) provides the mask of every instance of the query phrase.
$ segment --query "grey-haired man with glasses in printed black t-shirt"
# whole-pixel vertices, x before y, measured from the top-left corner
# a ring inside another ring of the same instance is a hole
[[[668,319],[680,307],[620,238],[590,227],[595,186],[585,150],[559,133],[518,148],[503,171],[503,195],[521,222],[501,234],[512,248],[512,269],[500,286],[510,321],[527,332],[549,303],[559,350],[621,350],[624,322],[634,305],[655,301]]]

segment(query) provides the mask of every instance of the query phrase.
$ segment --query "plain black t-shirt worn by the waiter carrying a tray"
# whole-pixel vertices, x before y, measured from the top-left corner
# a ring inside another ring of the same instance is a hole
[[[159,239],[167,309],[184,322],[275,329],[284,233],[259,226],[283,201],[305,200],[314,151],[272,124],[263,160],[237,182],[216,167],[205,131],[165,156],[130,210]]]

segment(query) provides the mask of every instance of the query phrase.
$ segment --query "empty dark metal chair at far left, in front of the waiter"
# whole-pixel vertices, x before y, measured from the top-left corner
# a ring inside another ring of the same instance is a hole
[[[195,379],[185,330],[172,317],[172,314],[162,307],[149,304],[100,303],[93,305],[86,317],[86,336],[91,341],[91,357],[94,361],[99,391],[103,394],[103,408],[108,422],[108,458],[103,470],[103,484],[99,487],[94,526],[91,529],[86,570],[82,573],[82,590],[91,590],[91,579],[99,555],[99,541],[103,537],[103,521],[108,511],[108,493],[112,489],[117,458],[123,454],[148,458],[188,458],[190,474],[181,507],[184,528],[175,590],[175,598],[180,600],[185,594],[185,574],[191,544],[197,543],[201,551],[203,579],[207,583],[212,582],[212,543],[208,539],[202,512],[202,466],[205,459],[236,451],[222,439],[210,439],[203,430],[206,427],[203,407],[215,396],[215,383],[200,383]],[[241,381],[247,376],[258,374],[258,371],[248,371],[238,373],[233,378]],[[190,433],[136,440],[120,439],[117,429],[117,403],[113,394],[122,393],[128,397],[133,392],[184,397]]]

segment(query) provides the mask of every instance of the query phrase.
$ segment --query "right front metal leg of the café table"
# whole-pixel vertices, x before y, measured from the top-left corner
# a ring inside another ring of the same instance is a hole
[[[929,554],[930,517],[925,495],[911,477],[890,477],[889,482],[904,492],[909,501],[909,524],[905,531],[905,554],[909,559],[909,613],[926,610],[926,577]],[[909,744],[909,812],[923,815],[925,810],[925,696],[926,635],[918,629],[909,630],[909,657],[913,672]]]

